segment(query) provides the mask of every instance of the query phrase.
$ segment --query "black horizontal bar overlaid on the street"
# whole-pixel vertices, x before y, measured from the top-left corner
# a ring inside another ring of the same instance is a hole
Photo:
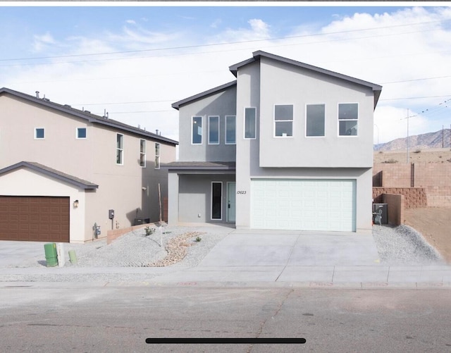
[[[149,345],[303,345],[305,338],[146,338]]]

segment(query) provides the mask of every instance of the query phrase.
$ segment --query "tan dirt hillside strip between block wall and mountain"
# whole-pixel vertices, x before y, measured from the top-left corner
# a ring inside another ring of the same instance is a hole
[[[412,149],[409,151],[409,163],[451,163],[451,150]],[[407,150],[375,151],[374,163],[407,163]]]

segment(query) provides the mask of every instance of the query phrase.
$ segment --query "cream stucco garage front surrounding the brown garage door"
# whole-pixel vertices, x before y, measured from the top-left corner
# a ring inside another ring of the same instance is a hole
[[[1,175],[0,194],[6,196],[69,197],[70,242],[85,242],[85,191],[73,185],[54,180],[26,168]],[[78,199],[78,208],[73,202]]]

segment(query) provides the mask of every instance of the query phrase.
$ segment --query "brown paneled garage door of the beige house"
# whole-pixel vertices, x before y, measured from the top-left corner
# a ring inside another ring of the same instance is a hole
[[[69,242],[69,198],[0,196],[0,240]]]

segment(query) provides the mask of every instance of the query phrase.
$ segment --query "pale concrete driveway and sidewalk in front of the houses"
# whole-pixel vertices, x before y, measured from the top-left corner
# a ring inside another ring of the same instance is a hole
[[[43,255],[43,244],[0,242],[0,287],[11,285],[8,278],[36,283],[51,274],[116,275],[124,278],[121,285],[451,288],[451,266],[381,264],[373,236],[366,234],[229,228],[228,235],[193,267],[13,267],[24,256]],[[134,281],[133,276],[140,279]],[[101,282],[111,285],[109,280]]]

